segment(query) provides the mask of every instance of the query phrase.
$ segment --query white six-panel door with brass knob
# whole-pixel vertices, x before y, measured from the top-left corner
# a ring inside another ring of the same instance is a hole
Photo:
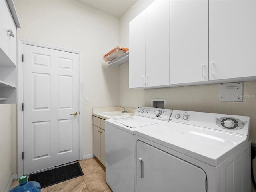
[[[23,174],[29,174],[79,159],[79,55],[25,44],[23,54]]]

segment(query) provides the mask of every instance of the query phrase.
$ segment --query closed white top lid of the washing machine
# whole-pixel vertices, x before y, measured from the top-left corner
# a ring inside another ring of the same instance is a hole
[[[147,125],[157,124],[156,122],[143,121],[141,119],[135,119],[132,117],[124,118],[124,119],[115,119],[114,121],[117,123],[121,123],[122,125],[130,127],[130,128],[143,127],[143,126],[147,126]]]

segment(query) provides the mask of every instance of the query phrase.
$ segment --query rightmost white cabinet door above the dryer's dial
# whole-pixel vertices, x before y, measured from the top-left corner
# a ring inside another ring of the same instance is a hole
[[[209,1],[209,80],[256,75],[256,0]]]

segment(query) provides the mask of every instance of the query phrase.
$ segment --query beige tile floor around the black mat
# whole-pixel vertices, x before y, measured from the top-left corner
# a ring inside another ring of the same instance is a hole
[[[41,192],[112,192],[105,182],[105,167],[96,157],[79,163],[83,176],[43,188]],[[18,184],[19,180],[14,180],[10,189]]]

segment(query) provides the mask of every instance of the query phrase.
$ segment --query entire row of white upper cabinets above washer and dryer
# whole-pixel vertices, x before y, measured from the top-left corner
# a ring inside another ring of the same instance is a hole
[[[256,0],[154,1],[130,22],[129,65],[130,88],[255,81]]]

